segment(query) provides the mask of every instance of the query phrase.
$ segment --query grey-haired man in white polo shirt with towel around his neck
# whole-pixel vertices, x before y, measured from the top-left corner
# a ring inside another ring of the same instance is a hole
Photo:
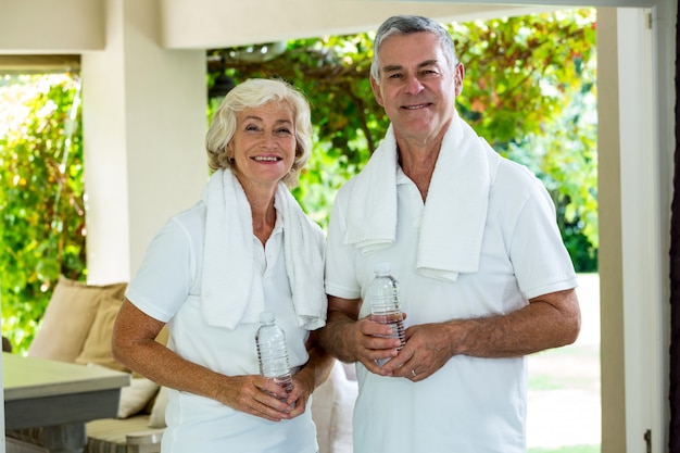
[[[525,452],[525,356],[580,329],[552,200],[457,115],[464,75],[436,22],[394,16],[378,29],[370,83],[391,126],[338,193],[322,332],[357,363],[355,453]],[[401,350],[362,303],[379,262],[401,282]]]

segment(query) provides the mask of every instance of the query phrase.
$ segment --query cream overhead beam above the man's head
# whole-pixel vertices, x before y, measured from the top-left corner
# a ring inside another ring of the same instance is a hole
[[[253,42],[343,35],[376,29],[392,14],[464,21],[520,14],[532,8],[446,2],[249,0],[225,8],[224,0],[162,0],[167,48],[219,48]],[[469,2],[468,2],[469,3]],[[473,2],[474,3],[474,2]],[[266,12],[266,13],[263,13]],[[256,17],[256,26],[253,18]]]

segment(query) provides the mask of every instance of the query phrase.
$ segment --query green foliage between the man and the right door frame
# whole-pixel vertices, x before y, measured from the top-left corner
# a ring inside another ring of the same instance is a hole
[[[595,10],[453,24],[462,115],[553,196],[578,272],[597,269]]]

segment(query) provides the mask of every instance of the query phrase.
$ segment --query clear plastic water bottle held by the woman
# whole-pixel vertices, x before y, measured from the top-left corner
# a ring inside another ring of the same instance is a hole
[[[260,328],[255,335],[255,342],[257,343],[260,374],[274,379],[287,393],[290,393],[293,389],[293,381],[288,361],[286,332],[276,325],[274,313],[262,312],[260,314]]]

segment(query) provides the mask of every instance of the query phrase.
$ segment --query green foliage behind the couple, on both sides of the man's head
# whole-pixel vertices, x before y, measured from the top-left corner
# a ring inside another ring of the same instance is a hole
[[[595,10],[450,24],[466,67],[457,108],[501,154],[529,166],[557,206],[577,270],[596,269]],[[389,125],[368,81],[372,34],[288,41],[256,62],[209,52],[210,80],[280,77],[313,106],[316,140],[295,196],[322,225],[336,190],[362,168]]]

